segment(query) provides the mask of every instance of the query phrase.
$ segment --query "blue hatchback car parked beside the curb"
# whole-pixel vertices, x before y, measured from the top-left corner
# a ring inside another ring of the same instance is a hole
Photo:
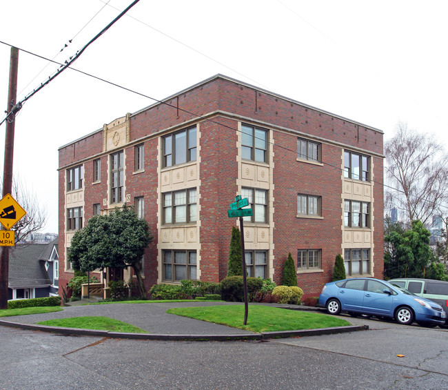
[[[329,314],[347,311],[350,315],[376,315],[395,318],[398,324],[409,325],[416,321],[422,326],[445,324],[446,313],[442,306],[384,280],[367,277],[338,280],[323,286],[319,306]]]

